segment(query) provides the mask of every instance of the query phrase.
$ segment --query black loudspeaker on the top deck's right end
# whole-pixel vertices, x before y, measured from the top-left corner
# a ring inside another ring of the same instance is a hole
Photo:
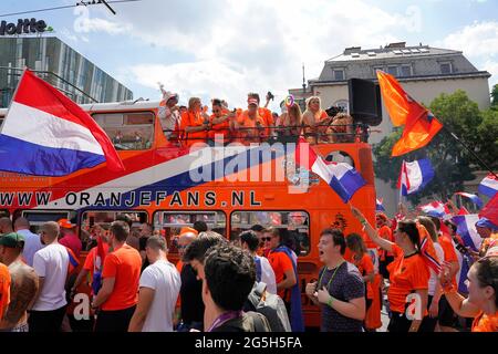
[[[382,123],[381,87],[373,81],[350,79],[350,115],[357,123],[371,126]]]

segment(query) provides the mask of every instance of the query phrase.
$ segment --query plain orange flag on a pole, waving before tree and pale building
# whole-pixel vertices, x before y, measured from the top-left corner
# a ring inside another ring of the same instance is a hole
[[[393,125],[405,125],[402,137],[393,146],[392,156],[401,156],[426,146],[443,128],[443,124],[413,100],[394,76],[377,71],[377,79]]]

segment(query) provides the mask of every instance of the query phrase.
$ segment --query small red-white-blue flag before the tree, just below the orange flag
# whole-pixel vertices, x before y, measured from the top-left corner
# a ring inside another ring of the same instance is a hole
[[[397,188],[403,196],[408,196],[422,190],[434,178],[434,169],[427,158],[413,163],[403,160]]]

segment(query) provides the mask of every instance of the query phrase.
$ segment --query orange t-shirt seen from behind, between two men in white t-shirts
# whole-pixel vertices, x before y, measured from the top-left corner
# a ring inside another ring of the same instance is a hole
[[[114,278],[114,290],[102,310],[116,311],[138,302],[142,257],[133,247],[125,244],[105,257],[102,278]]]

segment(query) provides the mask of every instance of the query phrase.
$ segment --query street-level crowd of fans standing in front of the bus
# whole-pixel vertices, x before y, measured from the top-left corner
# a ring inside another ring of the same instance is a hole
[[[180,229],[174,264],[166,238],[153,226],[142,223],[133,241],[131,219],[118,215],[108,227],[96,225],[97,244],[76,273],[82,242],[70,220],[45,222],[34,235],[27,219],[1,218],[0,331],[71,330],[77,319],[69,306],[87,283],[86,320],[95,332],[301,332],[301,295],[319,306],[321,331],[365,332],[373,330],[366,316],[378,291],[376,277],[383,278],[390,332],[466,325],[498,331],[498,226],[479,219],[483,248],[471,252],[450,221],[378,214],[370,225],[359,209],[351,210],[363,233],[323,229],[317,244],[323,267],[304,289],[295,241],[286,228],[255,225],[227,240],[198,221]],[[378,247],[380,267],[367,239]],[[470,260],[466,292],[456,280],[457,252]]]

